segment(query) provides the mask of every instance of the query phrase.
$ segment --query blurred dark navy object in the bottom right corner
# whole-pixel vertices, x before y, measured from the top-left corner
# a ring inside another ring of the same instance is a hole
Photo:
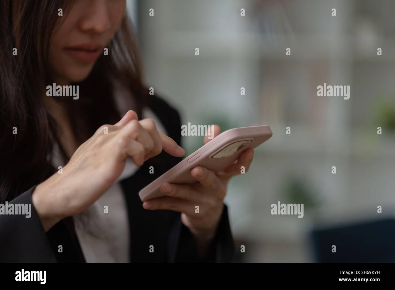
[[[312,239],[320,263],[395,262],[395,219],[315,228]],[[336,253],[332,253],[332,245]]]

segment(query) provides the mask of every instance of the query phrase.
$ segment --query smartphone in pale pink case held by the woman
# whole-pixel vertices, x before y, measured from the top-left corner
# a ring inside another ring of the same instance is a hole
[[[190,171],[195,166],[203,166],[214,172],[220,172],[248,148],[255,148],[273,135],[269,126],[234,128],[222,132],[180,163],[156,178],[139,191],[141,201],[165,196],[160,192],[163,183],[196,183]]]

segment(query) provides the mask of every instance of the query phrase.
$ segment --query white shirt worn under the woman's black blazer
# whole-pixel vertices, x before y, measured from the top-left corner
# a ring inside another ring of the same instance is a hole
[[[152,110],[143,109],[144,118],[152,118],[158,131],[167,134]],[[117,181],[86,211],[74,217],[75,231],[86,262],[130,262],[128,212],[120,181],[138,170],[131,158]],[[137,191],[132,194],[137,194]],[[108,213],[104,213],[104,206]]]

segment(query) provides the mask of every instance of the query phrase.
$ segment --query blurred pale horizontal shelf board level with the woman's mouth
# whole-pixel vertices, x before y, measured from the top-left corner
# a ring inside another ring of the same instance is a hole
[[[391,61],[395,62],[395,38],[386,37],[378,43],[364,44],[348,35],[292,35],[174,31],[155,35],[155,43],[147,51],[171,58],[192,58],[199,47],[202,58],[243,58],[251,60],[306,61]],[[336,43],[336,45],[333,45]],[[291,56],[285,50],[291,48]],[[377,55],[377,48],[383,50]]]

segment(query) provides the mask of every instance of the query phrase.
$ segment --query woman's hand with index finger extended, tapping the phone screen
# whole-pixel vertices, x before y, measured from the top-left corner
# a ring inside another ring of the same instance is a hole
[[[122,173],[130,156],[137,166],[162,149],[181,157],[184,150],[160,133],[152,119],[137,121],[128,111],[115,125],[103,125],[75,151],[63,173],[38,185],[32,202],[47,231],[64,217],[86,210]]]

